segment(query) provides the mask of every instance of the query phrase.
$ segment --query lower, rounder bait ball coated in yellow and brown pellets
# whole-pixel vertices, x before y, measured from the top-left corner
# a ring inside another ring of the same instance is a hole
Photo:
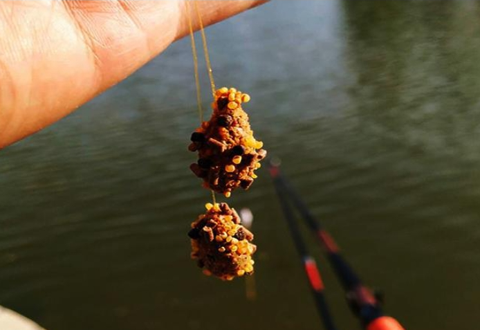
[[[192,258],[206,275],[230,280],[253,273],[253,234],[227,203],[205,204],[207,212],[192,223]]]

